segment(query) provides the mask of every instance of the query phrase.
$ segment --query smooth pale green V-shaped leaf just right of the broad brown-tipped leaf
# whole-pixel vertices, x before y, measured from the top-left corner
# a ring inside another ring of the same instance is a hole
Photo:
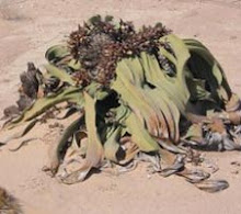
[[[142,66],[146,72],[146,79],[148,82],[159,88],[162,93],[165,93],[170,100],[172,100],[182,114],[185,114],[185,105],[190,99],[190,92],[185,82],[186,61],[190,58],[188,49],[185,44],[179,37],[170,34],[161,37],[161,42],[168,42],[173,52],[175,58],[170,56],[163,47],[160,47],[160,54],[171,59],[176,69],[175,77],[169,77],[163,70],[161,70],[158,60],[154,56],[150,56],[146,53],[141,53]]]

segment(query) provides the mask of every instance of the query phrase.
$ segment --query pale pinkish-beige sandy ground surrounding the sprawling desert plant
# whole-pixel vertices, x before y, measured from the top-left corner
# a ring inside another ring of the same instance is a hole
[[[0,110],[14,103],[19,74],[28,60],[41,65],[47,47],[93,14],[113,14],[151,24],[161,21],[183,37],[197,37],[219,59],[232,89],[241,95],[240,0],[0,0]],[[0,148],[0,185],[21,200],[26,213],[241,213],[241,154],[208,153],[220,167],[214,178],[229,181],[217,194],[195,189],[177,177],[147,177],[144,167],[119,177],[100,173],[65,185],[42,172],[55,137],[46,135],[15,153],[16,142]]]

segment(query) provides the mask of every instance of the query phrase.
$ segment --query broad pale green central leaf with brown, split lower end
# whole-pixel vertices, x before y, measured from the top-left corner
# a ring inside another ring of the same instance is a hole
[[[142,68],[146,68],[146,72],[153,70],[156,78],[158,71],[162,72],[160,66],[158,63],[153,66],[152,60],[157,59],[145,53],[141,53],[140,59],[136,59],[136,64],[131,64],[134,60],[123,59],[117,66],[117,78],[112,88],[122,95],[122,100],[138,115],[140,123],[145,124],[151,135],[171,137],[177,142],[180,113],[175,103],[162,88],[151,89],[145,82]],[[139,79],[138,74],[141,76]]]

